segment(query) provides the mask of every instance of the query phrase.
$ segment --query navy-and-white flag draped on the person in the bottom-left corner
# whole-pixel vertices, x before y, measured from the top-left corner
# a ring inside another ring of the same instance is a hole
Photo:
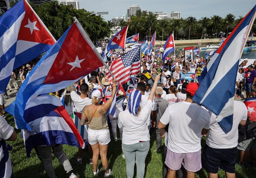
[[[0,177],[13,178],[11,158],[4,140],[0,141]]]

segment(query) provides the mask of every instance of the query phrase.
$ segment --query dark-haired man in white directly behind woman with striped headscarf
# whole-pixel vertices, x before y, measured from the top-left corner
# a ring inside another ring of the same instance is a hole
[[[137,90],[140,90],[141,91],[141,108],[147,104],[147,101],[148,101],[148,95],[145,95],[145,91],[146,91],[146,85],[142,82],[139,82],[137,84]],[[152,109],[151,109],[151,119],[150,119],[150,115],[148,117],[148,122],[147,122],[147,126],[148,126],[148,130],[150,131],[150,125],[151,125],[151,121],[154,121],[155,120],[155,117],[156,117],[156,114],[155,114],[155,110],[157,108],[155,107],[155,102],[154,100],[152,101]]]

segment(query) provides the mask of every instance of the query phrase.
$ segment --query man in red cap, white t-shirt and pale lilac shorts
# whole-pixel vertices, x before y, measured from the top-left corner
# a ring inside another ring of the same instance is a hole
[[[210,128],[210,116],[207,110],[192,100],[198,83],[187,85],[185,101],[167,107],[161,117],[158,128],[168,128],[168,144],[165,165],[167,177],[175,177],[181,164],[187,170],[187,177],[195,178],[201,166],[201,135]]]

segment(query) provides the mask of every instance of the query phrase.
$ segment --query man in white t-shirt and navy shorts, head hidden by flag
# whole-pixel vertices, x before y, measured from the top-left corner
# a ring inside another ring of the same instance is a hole
[[[234,114],[232,129],[225,133],[218,122],[217,116],[210,112],[211,126],[207,134],[203,153],[203,168],[209,178],[218,177],[218,170],[223,169],[227,178],[234,178],[237,158],[238,125],[245,125],[247,108],[241,101],[234,101]]]

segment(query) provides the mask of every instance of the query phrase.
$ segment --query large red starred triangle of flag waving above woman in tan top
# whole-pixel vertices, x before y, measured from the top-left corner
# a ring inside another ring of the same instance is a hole
[[[73,23],[43,83],[76,80],[103,66],[96,52]]]

